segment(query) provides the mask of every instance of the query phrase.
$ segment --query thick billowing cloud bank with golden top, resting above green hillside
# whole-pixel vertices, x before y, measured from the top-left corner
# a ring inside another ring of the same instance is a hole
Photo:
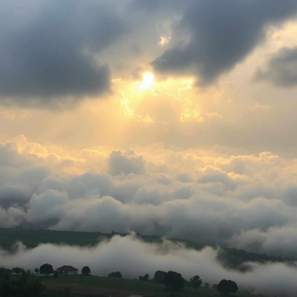
[[[130,229],[297,257],[296,160],[162,143],[70,156],[23,136],[1,145],[1,156],[2,226]]]

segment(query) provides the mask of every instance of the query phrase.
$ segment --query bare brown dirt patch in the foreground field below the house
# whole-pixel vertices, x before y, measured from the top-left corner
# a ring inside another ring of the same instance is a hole
[[[124,289],[116,289],[116,288],[107,288],[107,287],[99,287],[94,285],[83,285],[83,284],[73,284],[68,282],[42,282],[42,285],[46,287],[48,291],[59,291],[64,290],[65,288],[69,288],[71,293],[73,294],[81,294],[90,296],[100,296],[100,295],[111,295],[111,297],[124,297],[124,296],[151,296],[150,293],[132,291],[132,290],[124,290]]]

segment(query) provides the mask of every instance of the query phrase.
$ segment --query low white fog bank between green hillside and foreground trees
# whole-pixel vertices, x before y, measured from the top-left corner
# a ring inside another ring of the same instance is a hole
[[[164,239],[161,244],[151,244],[129,236],[113,236],[110,241],[101,241],[95,247],[40,244],[34,249],[26,249],[18,244],[17,252],[10,254],[0,250],[1,266],[15,266],[33,269],[50,263],[56,269],[63,265],[91,268],[91,274],[104,276],[112,271],[120,271],[124,278],[137,278],[148,273],[154,277],[157,270],[173,270],[187,280],[199,275],[210,286],[221,279],[234,280],[240,291],[268,296],[295,296],[297,291],[296,264],[250,263],[252,269],[242,273],[223,267],[217,261],[217,251],[206,247],[201,251],[186,249],[182,244],[172,244]]]

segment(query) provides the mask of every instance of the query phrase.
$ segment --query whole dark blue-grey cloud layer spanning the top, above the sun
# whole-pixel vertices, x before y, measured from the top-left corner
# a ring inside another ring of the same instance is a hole
[[[0,100],[69,108],[148,67],[208,85],[296,12],[294,1],[2,2]]]

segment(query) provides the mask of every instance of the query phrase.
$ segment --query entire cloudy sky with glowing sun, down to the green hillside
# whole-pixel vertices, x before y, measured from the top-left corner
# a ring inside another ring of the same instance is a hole
[[[296,1],[1,1],[0,38],[1,227],[297,258]]]

